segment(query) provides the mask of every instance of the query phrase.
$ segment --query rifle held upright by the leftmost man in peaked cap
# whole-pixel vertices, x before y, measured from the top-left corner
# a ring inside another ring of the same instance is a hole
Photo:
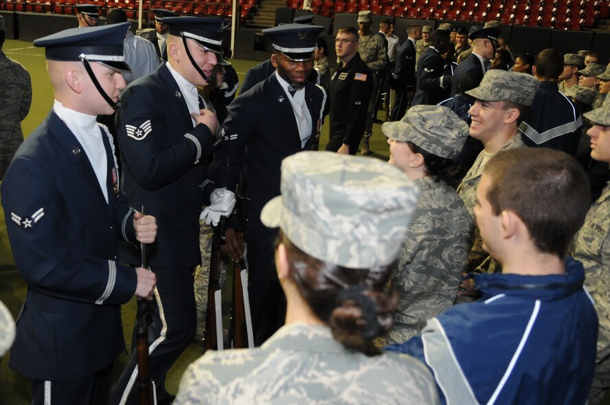
[[[142,206],[144,215],[144,206]],[[142,267],[148,268],[146,262],[146,246],[140,243],[140,255]],[[148,327],[144,319],[146,312],[146,301],[144,298],[137,299],[137,323],[135,329],[136,355],[137,355],[137,401],[138,405],[153,404],[153,382],[150,380],[150,369],[148,368]]]

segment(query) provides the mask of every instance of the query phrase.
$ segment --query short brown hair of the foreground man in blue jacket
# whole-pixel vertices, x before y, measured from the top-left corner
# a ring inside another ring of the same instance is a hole
[[[486,198],[495,215],[512,211],[535,246],[563,257],[589,209],[589,180],[576,159],[546,148],[499,152],[487,163]]]

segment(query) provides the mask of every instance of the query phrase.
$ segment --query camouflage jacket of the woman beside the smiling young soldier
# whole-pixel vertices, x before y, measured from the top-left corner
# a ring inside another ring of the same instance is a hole
[[[453,305],[471,248],[473,220],[455,190],[431,176],[416,181],[417,207],[392,283],[398,308],[388,343],[402,343]]]

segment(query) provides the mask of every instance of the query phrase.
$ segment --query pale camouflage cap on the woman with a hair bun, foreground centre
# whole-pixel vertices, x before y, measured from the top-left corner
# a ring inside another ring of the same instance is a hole
[[[379,159],[300,152],[282,161],[282,195],[260,213],[267,227],[316,259],[349,268],[396,259],[417,187]]]

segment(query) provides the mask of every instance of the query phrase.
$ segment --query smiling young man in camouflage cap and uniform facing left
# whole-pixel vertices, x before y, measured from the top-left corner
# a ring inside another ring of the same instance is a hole
[[[466,91],[476,100],[469,111],[472,118],[470,136],[482,141],[484,146],[457,187],[457,194],[464,200],[473,219],[477,185],[483,169],[497,152],[523,146],[519,123],[532,104],[538,86],[538,80],[527,73],[492,69],[485,74],[477,88]],[[483,250],[479,227],[475,226],[475,241],[468,255],[466,270],[475,270],[488,257],[488,253]],[[490,264],[493,265],[493,262]]]

